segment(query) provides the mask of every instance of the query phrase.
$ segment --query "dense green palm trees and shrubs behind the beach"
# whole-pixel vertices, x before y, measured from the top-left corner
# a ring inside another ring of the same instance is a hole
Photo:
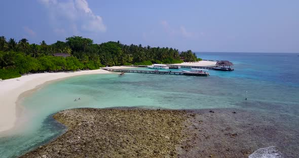
[[[55,53],[70,57],[56,57]],[[120,42],[94,44],[90,38],[67,37],[65,42],[57,41],[47,45],[29,44],[23,38],[16,42],[0,36],[0,78],[18,77],[28,72],[98,69],[114,65],[152,65],[153,63],[181,63],[198,61],[191,50],[178,52],[173,48],[151,48],[141,45],[123,45]]]

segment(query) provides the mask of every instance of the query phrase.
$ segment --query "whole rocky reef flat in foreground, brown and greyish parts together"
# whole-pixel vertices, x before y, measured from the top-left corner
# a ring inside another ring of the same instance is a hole
[[[298,156],[297,131],[239,109],[70,109],[54,119],[68,130],[22,157],[248,157],[275,146]]]

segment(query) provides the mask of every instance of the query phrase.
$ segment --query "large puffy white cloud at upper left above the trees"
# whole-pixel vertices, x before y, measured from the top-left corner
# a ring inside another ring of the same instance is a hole
[[[50,23],[56,33],[61,33],[62,29],[72,34],[106,31],[102,18],[92,12],[86,0],[39,1],[48,9]]]

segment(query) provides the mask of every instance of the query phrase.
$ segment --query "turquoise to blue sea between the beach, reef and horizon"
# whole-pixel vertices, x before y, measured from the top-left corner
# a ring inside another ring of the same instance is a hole
[[[0,157],[17,157],[65,131],[52,114],[78,107],[237,108],[256,111],[289,129],[299,146],[299,54],[197,53],[229,60],[234,71],[209,70],[210,76],[126,73],[75,76],[44,86],[24,98],[22,130],[0,135]],[[248,100],[245,101],[247,91]],[[80,101],[73,101],[76,98]],[[299,157],[299,151],[294,153]]]

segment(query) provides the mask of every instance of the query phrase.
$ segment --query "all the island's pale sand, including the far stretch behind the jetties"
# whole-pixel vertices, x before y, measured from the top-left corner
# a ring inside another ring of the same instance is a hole
[[[194,63],[181,63],[180,65],[208,66],[213,64],[215,64],[214,61],[200,61]],[[113,66],[113,68],[121,69],[128,67]],[[74,72],[33,73],[1,81],[0,100],[2,101],[2,104],[0,105],[0,109],[2,110],[0,111],[0,135],[3,135],[7,131],[14,130],[17,124],[18,114],[24,110],[24,108],[19,104],[28,93],[33,93],[44,85],[58,80],[64,80],[67,77],[104,73],[111,72],[103,69],[97,69]],[[29,92],[26,93],[27,91]]]

